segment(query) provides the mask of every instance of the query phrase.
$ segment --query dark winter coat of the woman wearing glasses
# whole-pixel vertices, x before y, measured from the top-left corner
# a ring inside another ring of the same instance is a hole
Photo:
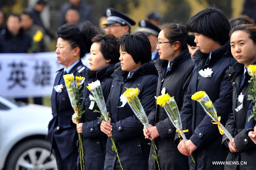
[[[188,49],[182,51],[170,62],[170,71],[167,73],[168,60],[157,59],[155,64],[158,71],[156,96],[160,96],[162,88],[165,87],[166,93],[174,96],[177,106],[181,110],[194,65]],[[170,121],[164,107],[156,105],[156,109],[150,112],[148,119],[151,125],[156,126],[160,135],[155,139],[160,169],[189,169],[188,157],[182,155],[174,144],[176,128]],[[154,154],[153,147],[150,149],[150,155],[152,154]],[[151,156],[148,164],[149,169],[158,169],[156,161]]]

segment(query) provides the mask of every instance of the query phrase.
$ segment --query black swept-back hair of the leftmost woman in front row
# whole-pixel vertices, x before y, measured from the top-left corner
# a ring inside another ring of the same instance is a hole
[[[57,30],[58,37],[67,40],[71,48],[80,48],[80,58],[84,57],[85,43],[83,41],[83,34],[76,24],[64,24],[60,26]]]

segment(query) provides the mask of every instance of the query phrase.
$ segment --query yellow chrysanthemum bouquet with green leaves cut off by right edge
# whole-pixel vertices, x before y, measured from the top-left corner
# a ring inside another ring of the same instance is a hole
[[[251,115],[248,117],[247,120],[249,122],[251,118],[254,118],[254,120],[256,121],[256,65],[249,65],[248,73],[251,76],[250,80],[248,81],[251,84],[248,90],[251,95],[248,95],[248,100],[253,100],[254,103]]]

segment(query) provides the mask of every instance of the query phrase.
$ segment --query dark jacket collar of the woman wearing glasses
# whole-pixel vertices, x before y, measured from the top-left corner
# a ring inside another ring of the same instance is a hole
[[[181,63],[183,63],[188,58],[191,58],[191,56],[189,54],[189,50],[185,49],[184,51],[179,53],[179,55],[174,57],[172,61],[170,61],[170,65],[172,65],[172,69],[175,69],[176,67],[178,67]],[[156,60],[156,64],[158,65],[158,67],[161,69],[162,72],[166,72],[168,60],[161,60],[160,58],[158,58]]]

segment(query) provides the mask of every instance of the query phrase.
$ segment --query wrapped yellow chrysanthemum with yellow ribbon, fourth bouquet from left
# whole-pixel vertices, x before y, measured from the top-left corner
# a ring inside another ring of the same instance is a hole
[[[161,107],[164,107],[165,112],[167,113],[168,117],[172,121],[172,124],[176,128],[176,132],[179,133],[179,138],[181,136],[183,140],[186,142],[187,138],[184,132],[188,132],[188,129],[182,130],[179,109],[174,97],[171,97],[168,93],[165,94],[165,87],[162,89],[161,94],[162,94],[161,96],[158,96],[158,97],[155,96],[156,104],[160,105]],[[193,156],[192,155],[190,156],[192,158],[192,161],[195,163]]]

